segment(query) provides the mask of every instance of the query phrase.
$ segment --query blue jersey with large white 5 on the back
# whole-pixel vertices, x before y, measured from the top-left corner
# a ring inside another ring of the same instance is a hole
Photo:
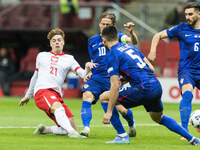
[[[144,55],[131,44],[113,45],[106,58],[109,77],[122,75],[132,87],[152,91],[159,81],[143,59]]]

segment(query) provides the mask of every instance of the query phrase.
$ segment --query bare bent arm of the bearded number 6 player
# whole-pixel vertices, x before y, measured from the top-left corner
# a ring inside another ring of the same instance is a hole
[[[154,35],[153,39],[152,39],[152,42],[151,42],[151,49],[150,49],[150,53],[147,57],[147,59],[153,63],[156,59],[156,48],[157,48],[157,45],[158,43],[160,42],[160,40],[164,39],[164,38],[167,38],[168,35],[167,35],[167,31],[166,30],[163,30],[157,34]]]

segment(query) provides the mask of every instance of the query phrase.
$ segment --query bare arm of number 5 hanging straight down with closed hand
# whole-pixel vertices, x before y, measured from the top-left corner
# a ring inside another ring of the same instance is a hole
[[[104,124],[110,123],[110,118],[112,117],[112,111],[119,95],[119,76],[112,75],[110,77],[110,82],[111,82],[111,88],[110,88],[108,109],[105,115],[103,116],[103,120],[102,120]]]

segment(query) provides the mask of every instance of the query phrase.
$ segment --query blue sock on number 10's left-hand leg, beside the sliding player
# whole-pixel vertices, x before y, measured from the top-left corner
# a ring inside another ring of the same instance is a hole
[[[92,119],[92,109],[91,109],[91,102],[83,101],[82,102],[82,108],[81,108],[81,118],[84,127],[90,126],[90,121]]]

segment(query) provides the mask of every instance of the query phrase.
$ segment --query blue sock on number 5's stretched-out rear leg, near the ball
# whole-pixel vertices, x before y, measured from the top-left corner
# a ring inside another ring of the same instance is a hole
[[[188,141],[190,141],[192,139],[192,135],[183,127],[181,127],[176,120],[174,120],[171,117],[167,117],[164,116],[162,117],[160,123],[161,125],[164,125],[165,127],[167,127],[169,130],[176,132],[177,134],[185,137]]]

